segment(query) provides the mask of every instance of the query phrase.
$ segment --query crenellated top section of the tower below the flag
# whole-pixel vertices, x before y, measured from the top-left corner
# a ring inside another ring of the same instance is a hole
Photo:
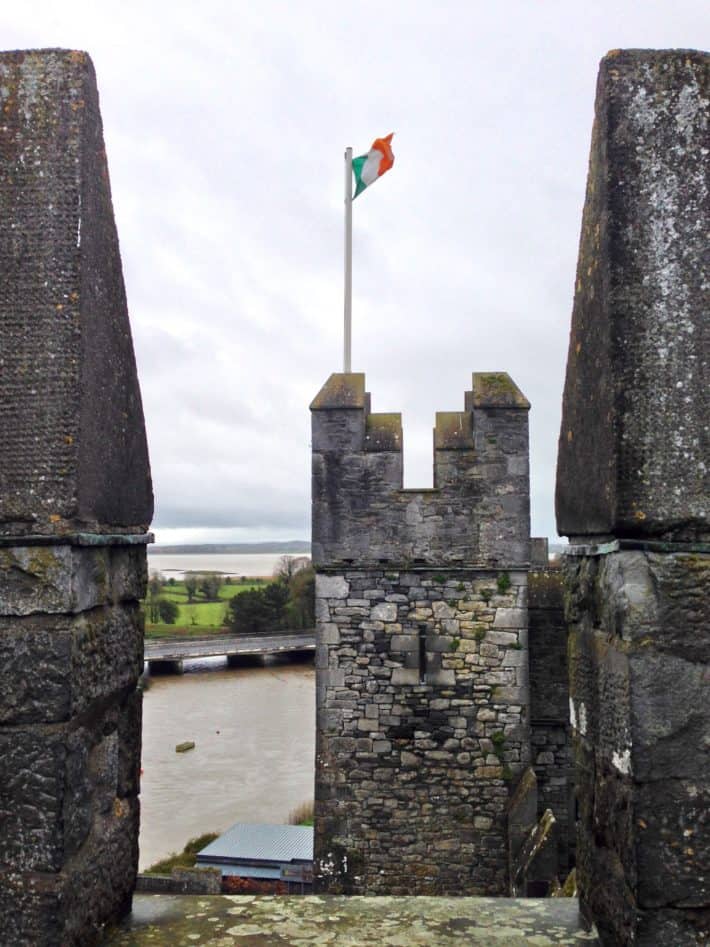
[[[331,375],[311,404],[315,564],[525,566],[529,408],[475,373],[464,410],[436,415],[434,488],[405,490],[401,415],[370,411],[364,374]]]

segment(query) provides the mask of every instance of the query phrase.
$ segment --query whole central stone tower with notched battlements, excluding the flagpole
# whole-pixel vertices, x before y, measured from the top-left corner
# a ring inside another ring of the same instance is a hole
[[[437,415],[429,491],[402,489],[399,416],[369,413],[364,376],[312,405],[320,891],[507,893],[529,762],[528,404],[505,375],[474,376],[466,403]]]

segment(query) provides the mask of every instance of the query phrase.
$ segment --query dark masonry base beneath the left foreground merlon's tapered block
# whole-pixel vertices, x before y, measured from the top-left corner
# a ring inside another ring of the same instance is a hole
[[[3,943],[96,942],[138,864],[144,546],[0,548]]]

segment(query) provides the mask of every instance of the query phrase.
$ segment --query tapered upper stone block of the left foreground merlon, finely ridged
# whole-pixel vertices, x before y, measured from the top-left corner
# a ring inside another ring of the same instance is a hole
[[[153,499],[91,60],[0,56],[0,534],[144,530]]]

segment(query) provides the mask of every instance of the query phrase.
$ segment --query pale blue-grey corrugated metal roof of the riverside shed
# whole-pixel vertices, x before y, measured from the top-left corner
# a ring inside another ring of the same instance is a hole
[[[313,861],[313,827],[309,825],[263,825],[237,822],[214,842],[210,842],[197,860],[229,858],[250,861]]]

